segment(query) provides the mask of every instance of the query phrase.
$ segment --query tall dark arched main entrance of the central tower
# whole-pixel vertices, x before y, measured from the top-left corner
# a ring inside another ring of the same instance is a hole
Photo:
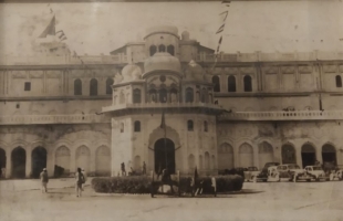
[[[168,138],[158,139],[155,143],[155,171],[159,172],[168,168],[170,173],[175,173],[175,145]]]

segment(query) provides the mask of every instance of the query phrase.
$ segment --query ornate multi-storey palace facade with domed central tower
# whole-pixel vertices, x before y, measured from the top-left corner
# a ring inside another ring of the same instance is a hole
[[[343,165],[343,53],[220,53],[175,27],[111,55],[44,43],[0,59],[6,178],[117,176],[168,167],[217,173],[294,162]]]

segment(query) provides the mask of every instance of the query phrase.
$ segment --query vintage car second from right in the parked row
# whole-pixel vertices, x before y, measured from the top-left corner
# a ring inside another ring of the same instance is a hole
[[[299,180],[326,180],[326,176],[321,166],[306,166],[302,172],[295,172],[293,177],[293,181],[297,182]]]

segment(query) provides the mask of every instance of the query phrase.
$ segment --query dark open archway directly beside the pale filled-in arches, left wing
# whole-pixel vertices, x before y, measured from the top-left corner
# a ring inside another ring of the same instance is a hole
[[[46,150],[44,147],[35,147],[31,154],[32,178],[39,178],[41,171],[46,167]]]

